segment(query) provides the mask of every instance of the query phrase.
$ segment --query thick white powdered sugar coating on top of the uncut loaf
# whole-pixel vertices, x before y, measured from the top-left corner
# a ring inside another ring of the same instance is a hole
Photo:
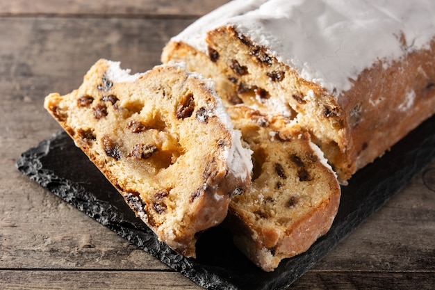
[[[234,0],[173,40],[207,53],[206,32],[225,25],[338,95],[375,62],[387,67],[404,51],[427,48],[435,35],[435,1]]]

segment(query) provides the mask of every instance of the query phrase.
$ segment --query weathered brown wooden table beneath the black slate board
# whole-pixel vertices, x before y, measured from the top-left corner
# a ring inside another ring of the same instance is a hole
[[[220,1],[0,0],[0,289],[201,289],[15,168],[60,127],[49,92],[77,88],[98,58],[133,72]],[[434,289],[435,162],[292,289]]]

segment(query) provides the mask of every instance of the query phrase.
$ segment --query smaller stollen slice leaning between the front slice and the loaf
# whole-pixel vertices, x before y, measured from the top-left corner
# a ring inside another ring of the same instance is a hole
[[[273,271],[306,250],[336,216],[340,186],[310,135],[279,115],[228,108],[253,151],[252,184],[234,196],[224,223],[234,243],[257,266]]]

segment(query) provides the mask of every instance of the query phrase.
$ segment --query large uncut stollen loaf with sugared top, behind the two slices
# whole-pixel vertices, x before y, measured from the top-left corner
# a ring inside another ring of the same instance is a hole
[[[435,1],[235,0],[174,36],[229,104],[297,118],[341,182],[435,113]]]

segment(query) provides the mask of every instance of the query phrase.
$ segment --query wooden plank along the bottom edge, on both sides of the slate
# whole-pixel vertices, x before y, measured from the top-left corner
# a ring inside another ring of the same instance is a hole
[[[432,290],[435,272],[314,272],[291,285],[303,289]],[[0,270],[1,289],[203,289],[174,272]]]

